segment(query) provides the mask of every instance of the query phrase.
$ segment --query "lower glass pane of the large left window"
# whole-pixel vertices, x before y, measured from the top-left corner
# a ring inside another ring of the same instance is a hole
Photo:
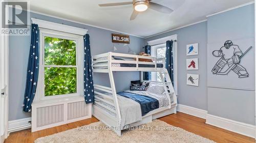
[[[76,68],[45,68],[45,96],[76,93]]]

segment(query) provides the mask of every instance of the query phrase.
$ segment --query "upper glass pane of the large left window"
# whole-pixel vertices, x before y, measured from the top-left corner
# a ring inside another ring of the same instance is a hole
[[[76,65],[76,41],[45,37],[45,65]]]

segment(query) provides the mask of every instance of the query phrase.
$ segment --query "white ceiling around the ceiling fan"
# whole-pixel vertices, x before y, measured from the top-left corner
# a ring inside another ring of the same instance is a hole
[[[206,19],[206,15],[236,7],[253,0],[153,0],[174,10],[163,14],[151,9],[130,21],[132,5],[99,7],[98,4],[132,0],[32,0],[30,9],[61,18],[108,28],[139,37],[148,37]]]

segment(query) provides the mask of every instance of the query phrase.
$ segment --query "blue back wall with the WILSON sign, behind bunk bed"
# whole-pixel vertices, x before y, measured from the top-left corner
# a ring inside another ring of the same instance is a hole
[[[56,23],[64,23],[80,28],[86,28],[90,34],[92,55],[113,51],[113,43],[111,34],[116,33],[101,28],[88,25],[78,24],[70,21],[56,19],[53,17],[31,13],[32,18],[47,20]],[[130,36],[130,48],[137,54],[143,51],[144,39]],[[30,45],[30,36],[10,36],[9,37],[9,121],[31,117],[30,113],[22,111],[22,104],[26,85],[26,70],[28,63],[28,53]],[[128,48],[123,44],[115,44],[117,51],[120,53],[128,53]],[[133,54],[130,52],[130,54]],[[131,80],[140,79],[139,72],[117,72],[114,73],[116,88],[118,91],[129,89]],[[95,83],[109,85],[108,76],[106,74],[95,74]]]

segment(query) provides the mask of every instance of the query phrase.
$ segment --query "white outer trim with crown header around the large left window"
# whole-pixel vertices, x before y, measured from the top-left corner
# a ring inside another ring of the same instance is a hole
[[[79,28],[79,27],[74,27],[74,26],[69,26],[69,25],[65,25],[64,23],[59,24],[59,23],[54,23],[54,22],[50,22],[50,21],[45,21],[45,20],[40,20],[40,19],[36,19],[36,18],[31,18],[32,23],[36,23],[39,27],[39,40],[42,38],[42,33],[43,32],[54,32],[54,33],[62,33],[64,35],[68,35],[68,36],[74,36],[79,38],[79,45],[77,46],[77,49],[79,49],[79,52],[76,52],[76,54],[79,56],[77,56],[77,59],[79,61],[80,68],[79,68],[79,81],[77,81],[79,83],[79,90],[77,90],[77,92],[79,92],[79,94],[77,95],[73,95],[73,96],[49,96],[49,97],[45,97],[45,95],[42,95],[42,78],[41,78],[41,66],[39,65],[39,75],[38,75],[38,82],[37,82],[37,89],[36,89],[36,93],[35,93],[35,97],[34,97],[34,101],[33,102],[39,102],[39,103],[48,103],[50,99],[52,103],[55,102],[59,102],[59,101],[69,101],[71,99],[74,98],[84,98],[84,93],[83,93],[83,59],[84,59],[84,45],[83,45],[83,36],[87,34],[88,30],[86,28]],[[41,41],[41,40],[40,40]],[[41,58],[42,58],[42,42],[39,41],[39,64],[41,64]],[[82,53],[82,54],[78,54],[78,53]],[[44,79],[45,80],[45,79]],[[53,100],[54,99],[54,100]]]

